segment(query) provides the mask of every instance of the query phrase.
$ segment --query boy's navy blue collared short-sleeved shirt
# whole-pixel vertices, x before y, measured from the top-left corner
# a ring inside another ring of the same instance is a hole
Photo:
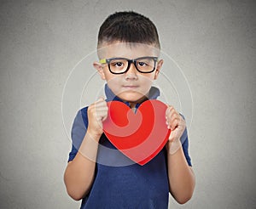
[[[108,88],[107,84],[105,93],[107,101],[121,101]],[[159,95],[159,89],[152,87],[148,99],[156,99]],[[136,107],[138,106],[139,104],[136,105]],[[73,121],[73,147],[68,161],[73,161],[86,133],[87,109],[88,107],[79,110]],[[188,165],[191,166],[186,129],[181,142]],[[148,161],[144,166],[140,166],[117,150],[103,133],[98,147],[95,180],[90,193],[84,197],[81,208],[161,209],[168,207],[168,200],[166,148],[163,148],[154,159]]]

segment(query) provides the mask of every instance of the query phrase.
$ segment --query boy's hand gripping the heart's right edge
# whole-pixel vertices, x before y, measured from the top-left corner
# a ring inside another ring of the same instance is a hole
[[[172,155],[182,146],[180,138],[185,130],[186,122],[177,110],[172,106],[168,106],[166,109],[166,125],[168,129],[171,129],[171,134],[166,147]]]

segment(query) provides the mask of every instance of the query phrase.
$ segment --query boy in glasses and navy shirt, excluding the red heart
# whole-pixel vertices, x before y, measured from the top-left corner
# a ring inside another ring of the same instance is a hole
[[[100,62],[94,66],[107,82],[107,99],[79,110],[73,122],[73,149],[64,174],[68,195],[83,199],[81,208],[167,208],[169,192],[181,204],[189,201],[195,177],[185,121],[172,106],[166,109],[166,126],[172,130],[166,147],[144,166],[116,150],[102,130],[108,101],[136,111],[160,95],[151,87],[163,64],[154,24],[135,12],[112,14],[100,28],[97,48]]]

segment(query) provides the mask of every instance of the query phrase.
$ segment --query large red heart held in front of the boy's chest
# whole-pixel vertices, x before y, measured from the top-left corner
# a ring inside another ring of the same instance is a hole
[[[122,102],[108,102],[104,133],[118,150],[143,166],[162,150],[171,133],[166,108],[159,100],[147,100],[134,113]]]

